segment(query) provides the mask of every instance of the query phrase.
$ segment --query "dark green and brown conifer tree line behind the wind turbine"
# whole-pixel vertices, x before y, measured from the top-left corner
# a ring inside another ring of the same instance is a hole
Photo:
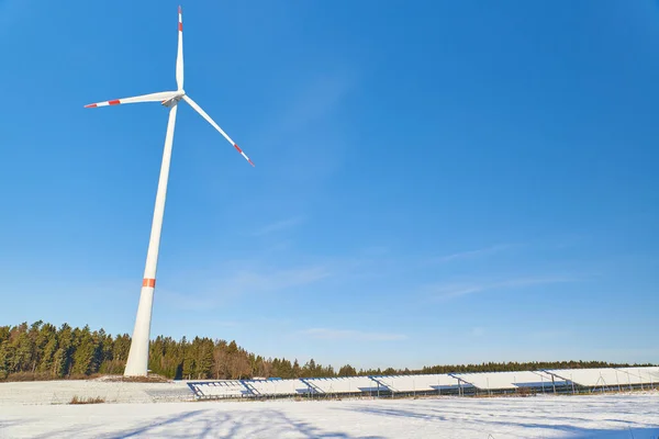
[[[35,322],[0,326],[0,381],[82,379],[96,374],[122,374],[131,337],[112,336],[89,326],[56,327]],[[420,370],[388,368],[356,370],[345,364],[335,370],[313,359],[300,365],[286,358],[264,358],[241,348],[235,340],[158,336],[149,344],[148,368],[168,379],[239,380],[250,378],[332,378],[449,372],[501,372],[537,369],[627,367],[604,361],[506,362],[424,367]],[[637,364],[651,365],[651,364]]]

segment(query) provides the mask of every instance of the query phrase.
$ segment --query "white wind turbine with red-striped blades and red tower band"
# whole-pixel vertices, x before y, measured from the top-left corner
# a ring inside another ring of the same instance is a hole
[[[156,206],[154,209],[154,219],[152,224],[150,239],[148,241],[148,251],[146,255],[146,268],[144,269],[144,280],[142,281],[142,292],[139,294],[139,305],[137,307],[137,317],[135,318],[135,328],[133,329],[133,340],[129,352],[129,361],[124,371],[125,376],[144,376],[147,373],[148,364],[148,342],[150,333],[152,309],[154,304],[154,290],[156,288],[156,267],[158,264],[158,247],[160,246],[160,229],[163,228],[163,214],[165,212],[165,198],[167,196],[167,179],[169,177],[169,160],[171,158],[171,144],[174,140],[174,125],[176,124],[176,111],[179,101],[182,99],[188,102],[203,119],[205,119],[215,130],[220,132],[236,148],[238,153],[249,165],[254,166],[249,157],[236,145],[234,140],[226,135],[224,131],[201,109],[183,90],[183,21],[181,8],[179,7],[178,22],[178,53],[176,57],[176,91],[161,91],[158,93],[143,94],[134,98],[115,99],[112,101],[97,102],[85,108],[97,108],[105,105],[119,105],[122,103],[137,102],[160,102],[169,108],[169,122],[167,123],[167,135],[165,136],[165,150],[163,153],[163,165],[160,166],[160,179],[158,180],[158,191],[156,193]]]

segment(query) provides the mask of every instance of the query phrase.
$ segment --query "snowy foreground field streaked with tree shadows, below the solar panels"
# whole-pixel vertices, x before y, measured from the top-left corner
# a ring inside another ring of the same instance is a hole
[[[0,393],[2,392],[0,385]],[[0,438],[659,437],[659,393],[526,398],[0,405]]]

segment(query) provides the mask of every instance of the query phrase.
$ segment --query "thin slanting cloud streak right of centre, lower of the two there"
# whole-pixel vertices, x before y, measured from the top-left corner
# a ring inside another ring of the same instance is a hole
[[[425,291],[436,300],[448,300],[494,290],[521,289],[551,283],[574,282],[577,280],[577,278],[567,275],[525,277],[489,282],[439,283],[427,285]]]

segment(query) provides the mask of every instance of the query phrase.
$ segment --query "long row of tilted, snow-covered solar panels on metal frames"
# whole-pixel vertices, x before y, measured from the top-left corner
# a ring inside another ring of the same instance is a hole
[[[294,395],[455,394],[560,389],[627,389],[659,384],[659,368],[548,369],[422,375],[371,375],[292,380],[188,382],[199,398]]]

